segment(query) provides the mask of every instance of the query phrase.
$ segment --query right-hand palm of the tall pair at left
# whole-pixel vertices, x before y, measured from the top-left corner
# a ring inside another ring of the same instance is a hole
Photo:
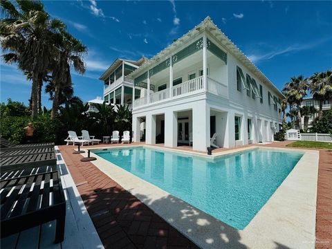
[[[59,108],[59,96],[62,89],[70,89],[72,86],[71,67],[73,67],[77,73],[82,74],[85,72],[82,55],[87,51],[86,46],[64,30],[57,35],[57,42],[59,43],[59,47],[58,50],[55,51],[55,59],[52,63],[54,96],[51,118],[53,119]]]

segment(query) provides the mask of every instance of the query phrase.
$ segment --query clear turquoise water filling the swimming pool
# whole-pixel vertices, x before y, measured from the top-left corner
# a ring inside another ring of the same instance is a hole
[[[147,147],[93,153],[238,229],[250,223],[303,155],[250,149],[211,160]]]

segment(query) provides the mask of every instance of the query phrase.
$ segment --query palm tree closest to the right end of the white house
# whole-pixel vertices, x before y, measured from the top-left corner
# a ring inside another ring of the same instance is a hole
[[[299,129],[302,129],[302,120],[301,120],[301,102],[306,95],[306,90],[308,89],[308,80],[304,79],[302,75],[298,77],[291,77],[291,81],[286,83],[283,91],[286,92],[288,96],[288,104],[292,107],[296,104],[297,107],[297,124]]]

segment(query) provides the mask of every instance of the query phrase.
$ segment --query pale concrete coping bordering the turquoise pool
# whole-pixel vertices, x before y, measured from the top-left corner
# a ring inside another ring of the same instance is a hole
[[[163,150],[151,145],[99,147],[98,149],[126,147],[151,147]],[[98,160],[91,163],[202,248],[284,246],[314,248],[319,151],[252,146],[221,151],[216,153],[215,157],[257,147],[278,151],[302,151],[304,156],[243,230],[230,227],[98,155],[93,154]],[[169,148],[167,150],[183,154],[180,150]],[[193,151],[186,151],[185,154],[203,156]]]

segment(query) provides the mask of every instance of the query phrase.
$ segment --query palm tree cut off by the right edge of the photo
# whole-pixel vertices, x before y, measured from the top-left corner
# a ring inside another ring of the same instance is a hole
[[[323,118],[323,102],[329,100],[332,96],[332,71],[327,70],[322,73],[314,73],[310,77],[311,94],[315,100],[320,102],[320,111],[318,111],[318,120]]]

